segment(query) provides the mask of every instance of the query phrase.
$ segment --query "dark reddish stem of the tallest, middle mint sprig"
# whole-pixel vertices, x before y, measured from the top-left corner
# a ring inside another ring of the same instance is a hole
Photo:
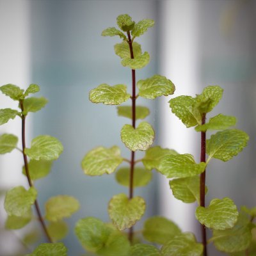
[[[131,54],[131,59],[134,59],[133,49],[132,49],[132,40],[130,31],[127,31],[128,36],[128,44]],[[135,77],[135,70],[132,69],[132,127],[136,128],[136,77]],[[129,182],[129,199],[133,198],[133,176],[134,176],[134,157],[135,152],[131,152],[131,171],[130,171],[130,182]],[[132,243],[133,238],[133,228],[129,228],[129,241]]]

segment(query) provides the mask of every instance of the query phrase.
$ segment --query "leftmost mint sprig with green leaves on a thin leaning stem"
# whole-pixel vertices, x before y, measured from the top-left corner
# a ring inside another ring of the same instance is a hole
[[[17,136],[2,134],[0,136],[0,154],[6,154],[15,149],[21,152],[24,159],[22,173],[26,175],[29,185],[29,189],[18,186],[6,193],[4,208],[8,218],[5,227],[10,230],[17,230],[28,225],[35,218],[31,210],[31,206],[34,204],[36,218],[40,222],[42,232],[48,243],[41,244],[31,255],[49,255],[47,252],[51,250],[55,250],[56,254],[54,255],[64,255],[59,253],[59,251],[67,251],[62,243],[51,243],[59,241],[67,235],[68,227],[63,218],[68,218],[76,212],[79,209],[79,202],[73,196],[53,196],[45,203],[45,215],[43,215],[36,199],[37,191],[34,186],[37,179],[44,178],[51,171],[52,163],[62,153],[63,146],[58,139],[52,136],[40,135],[31,141],[30,148],[26,147],[26,118],[29,113],[35,113],[44,108],[47,99],[44,97],[28,97],[31,93],[39,92],[40,88],[36,84],[30,84],[25,92],[13,84],[1,86],[0,90],[6,96],[19,102],[19,110],[0,109],[0,125],[19,116],[22,134],[21,149],[17,147]],[[28,157],[30,161],[28,161]]]

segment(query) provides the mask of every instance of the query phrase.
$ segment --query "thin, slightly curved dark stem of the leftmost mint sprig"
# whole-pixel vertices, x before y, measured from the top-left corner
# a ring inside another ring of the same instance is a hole
[[[32,182],[31,177],[29,175],[28,157],[25,154],[25,148],[26,148],[26,115],[23,114],[23,112],[24,112],[23,100],[20,100],[20,109],[22,111],[22,115],[21,115],[21,119],[22,119],[22,154],[23,154],[23,159],[24,159],[24,166],[25,166],[26,176],[28,178],[29,187],[31,188],[31,187],[33,187],[33,182]],[[36,208],[36,213],[37,213],[38,219],[41,223],[41,226],[44,230],[44,233],[45,233],[45,236],[47,237],[47,240],[50,243],[53,243],[53,241],[51,239],[51,236],[49,235],[48,230],[46,228],[44,218],[42,217],[40,207],[38,205],[37,200],[35,200],[35,208]]]

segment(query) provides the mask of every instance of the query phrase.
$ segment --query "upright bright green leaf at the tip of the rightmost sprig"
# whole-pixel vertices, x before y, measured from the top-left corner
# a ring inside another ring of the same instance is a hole
[[[196,95],[196,107],[200,113],[209,113],[219,103],[223,94],[220,86],[207,86],[200,95]]]

